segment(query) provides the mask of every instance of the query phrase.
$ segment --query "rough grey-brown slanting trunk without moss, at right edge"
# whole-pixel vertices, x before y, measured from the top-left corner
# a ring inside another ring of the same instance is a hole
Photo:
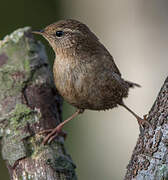
[[[152,128],[141,129],[125,180],[168,179],[168,77],[147,120]]]

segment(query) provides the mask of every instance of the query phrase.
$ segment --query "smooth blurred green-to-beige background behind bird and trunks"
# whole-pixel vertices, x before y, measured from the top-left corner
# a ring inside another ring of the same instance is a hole
[[[1,0],[0,39],[20,27],[40,29],[65,18],[86,23],[112,53],[122,76],[142,85],[130,91],[125,103],[140,116],[147,114],[168,72],[168,1]],[[40,40],[52,61],[53,51]],[[64,118],[74,110],[65,103]],[[122,107],[86,111],[65,129],[79,180],[123,179],[139,134],[130,113]],[[0,179],[9,179],[3,161]]]

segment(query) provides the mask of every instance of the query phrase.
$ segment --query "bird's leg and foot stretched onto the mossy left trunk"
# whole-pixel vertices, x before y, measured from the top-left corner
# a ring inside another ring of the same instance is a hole
[[[53,129],[46,129],[46,130],[39,132],[39,134],[49,133],[44,138],[43,144],[50,143],[58,135],[62,135],[64,137],[66,137],[66,133],[62,131],[63,126],[67,122],[69,122],[70,120],[72,120],[73,118],[75,118],[76,116],[78,116],[79,114],[81,114],[83,112],[84,112],[83,109],[78,109],[74,114],[72,114],[72,116],[70,116],[68,119],[66,119],[62,123],[60,123],[57,127],[53,128]]]

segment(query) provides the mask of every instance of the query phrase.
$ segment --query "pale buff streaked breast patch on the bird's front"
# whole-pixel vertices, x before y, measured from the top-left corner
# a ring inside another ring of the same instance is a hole
[[[87,96],[86,73],[82,67],[69,59],[56,58],[53,66],[54,81],[59,93],[69,103],[78,106]]]

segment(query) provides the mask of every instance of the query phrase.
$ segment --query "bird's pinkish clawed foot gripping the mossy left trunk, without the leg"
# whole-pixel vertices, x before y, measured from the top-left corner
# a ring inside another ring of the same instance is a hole
[[[58,125],[56,128],[53,129],[46,129],[40,131],[38,134],[47,134],[47,136],[43,140],[43,144],[50,144],[51,141],[56,138],[57,136],[62,136],[64,139],[67,137],[67,133],[62,130],[62,126]]]

